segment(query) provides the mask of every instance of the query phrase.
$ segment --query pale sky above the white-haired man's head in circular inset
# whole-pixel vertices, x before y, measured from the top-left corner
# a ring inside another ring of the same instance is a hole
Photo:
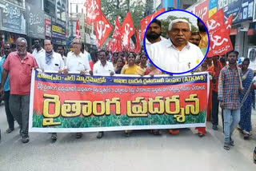
[[[186,18],[190,18],[190,22],[192,22],[192,24],[198,28],[197,26],[197,20],[198,18],[194,17],[194,15],[192,14],[189,14],[189,13],[186,13],[186,12],[183,12],[183,11],[170,11],[168,13],[165,13],[165,14],[162,14],[158,17],[158,19],[166,19],[168,16],[177,16],[177,17],[186,17]]]

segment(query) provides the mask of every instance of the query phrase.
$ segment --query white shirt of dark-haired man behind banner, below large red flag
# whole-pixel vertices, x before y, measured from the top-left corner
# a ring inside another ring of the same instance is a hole
[[[111,62],[106,62],[105,66],[100,61],[94,64],[94,75],[110,76],[111,71],[114,72],[114,66]]]

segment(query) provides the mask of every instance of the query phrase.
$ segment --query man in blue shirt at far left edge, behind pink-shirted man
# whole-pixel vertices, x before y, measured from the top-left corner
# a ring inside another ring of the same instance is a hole
[[[8,55],[11,52],[11,44],[6,43],[5,44],[5,55],[2,57],[0,61],[0,80],[2,80],[2,71],[4,68],[2,67],[2,64],[6,61]],[[10,107],[9,107],[9,97],[10,97],[10,75],[6,78],[6,84],[4,85],[4,97],[3,100],[5,101],[5,109],[6,109],[6,117],[9,128],[6,129],[6,133],[11,133],[14,130],[14,117],[12,113],[10,113]]]

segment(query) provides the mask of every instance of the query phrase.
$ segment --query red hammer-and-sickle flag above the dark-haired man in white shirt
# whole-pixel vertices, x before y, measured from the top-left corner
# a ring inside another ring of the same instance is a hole
[[[110,22],[106,19],[104,14],[101,14],[101,17],[98,21],[95,22],[95,31],[96,31],[96,38],[98,40],[98,46],[102,46],[103,42],[106,41],[106,38],[110,35],[111,30],[113,27],[111,26]]]

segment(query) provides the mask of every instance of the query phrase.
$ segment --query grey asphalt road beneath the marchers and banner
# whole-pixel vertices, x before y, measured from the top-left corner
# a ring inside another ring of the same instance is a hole
[[[254,130],[256,114],[253,116]],[[58,141],[52,143],[49,133],[30,133],[30,142],[22,144],[18,126],[12,133],[7,128],[4,105],[0,105],[0,171],[22,170],[203,170],[203,171],[255,171],[253,150],[256,132],[249,140],[243,140],[236,131],[235,147],[223,149],[222,129],[211,129],[207,123],[206,137],[198,137],[194,129],[182,129],[179,135],[162,130],[161,136],[153,136],[148,130],[134,131],[130,137],[123,132],[108,132],[102,139],[97,133],[84,133],[82,139],[74,134],[58,133]]]

